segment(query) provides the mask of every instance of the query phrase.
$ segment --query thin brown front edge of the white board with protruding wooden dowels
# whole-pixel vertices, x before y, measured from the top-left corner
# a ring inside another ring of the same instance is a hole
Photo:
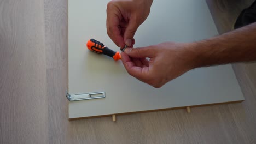
[[[172,108],[167,108],[167,109],[157,109],[157,110],[147,110],[147,111],[135,111],[135,112],[125,112],[125,113],[112,113],[109,115],[100,115],[100,116],[90,116],[90,117],[78,117],[78,118],[69,118],[69,121],[74,121],[78,119],[86,119],[86,118],[99,118],[99,117],[112,117],[112,121],[116,121],[116,116],[117,115],[130,115],[130,114],[135,114],[135,113],[146,113],[146,112],[156,112],[156,111],[167,111],[167,110],[177,110],[177,109],[186,109],[187,113],[191,112],[192,107],[203,107],[203,106],[212,106],[212,105],[223,105],[223,104],[235,104],[235,103],[241,103],[244,100],[237,100],[237,101],[229,101],[229,102],[223,102],[223,103],[213,103],[213,104],[203,104],[203,105],[193,105],[193,106],[182,106],[182,107],[172,107]],[[188,107],[189,111],[188,112]],[[114,119],[113,119],[114,116]],[[113,121],[113,122],[115,122]]]

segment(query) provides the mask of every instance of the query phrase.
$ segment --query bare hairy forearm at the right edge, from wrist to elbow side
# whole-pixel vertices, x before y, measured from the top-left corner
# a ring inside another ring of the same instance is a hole
[[[195,67],[256,61],[256,23],[192,45]]]

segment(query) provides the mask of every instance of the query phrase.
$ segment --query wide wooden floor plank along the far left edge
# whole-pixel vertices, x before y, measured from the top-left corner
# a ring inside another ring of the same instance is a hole
[[[48,143],[43,1],[0,1],[0,143]]]

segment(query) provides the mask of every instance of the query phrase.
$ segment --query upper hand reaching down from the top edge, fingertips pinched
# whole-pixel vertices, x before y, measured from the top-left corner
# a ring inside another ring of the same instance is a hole
[[[153,0],[115,0],[107,5],[107,33],[114,43],[132,47],[139,25],[148,17]]]

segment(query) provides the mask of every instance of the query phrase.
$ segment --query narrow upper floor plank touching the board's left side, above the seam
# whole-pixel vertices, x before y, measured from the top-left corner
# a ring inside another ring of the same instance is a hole
[[[44,0],[46,67],[67,67],[67,0]]]

